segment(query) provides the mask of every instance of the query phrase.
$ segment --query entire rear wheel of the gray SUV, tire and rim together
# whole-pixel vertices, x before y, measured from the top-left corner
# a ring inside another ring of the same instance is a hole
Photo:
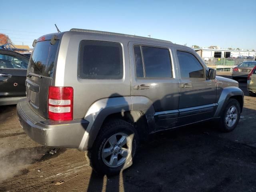
[[[87,152],[87,160],[99,174],[118,174],[132,165],[138,144],[134,126],[121,119],[109,120]]]

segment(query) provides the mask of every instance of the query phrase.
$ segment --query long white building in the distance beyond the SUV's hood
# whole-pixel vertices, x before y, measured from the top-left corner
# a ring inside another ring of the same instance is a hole
[[[238,58],[238,57],[254,57],[256,56],[255,51],[244,51],[244,50],[228,50],[228,49],[216,49],[216,48],[198,48],[194,49],[198,55],[204,60],[209,58]]]

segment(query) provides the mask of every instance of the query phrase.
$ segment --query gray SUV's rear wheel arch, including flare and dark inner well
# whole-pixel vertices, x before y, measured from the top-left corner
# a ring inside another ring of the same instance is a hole
[[[152,132],[154,108],[152,102],[146,97],[136,96],[134,100],[132,98],[130,96],[122,96],[104,98],[94,102],[84,116],[89,125],[86,128],[78,150],[89,150],[102,124],[111,118],[120,118],[133,124],[138,131],[140,139],[142,141],[146,140],[146,137],[143,135]]]

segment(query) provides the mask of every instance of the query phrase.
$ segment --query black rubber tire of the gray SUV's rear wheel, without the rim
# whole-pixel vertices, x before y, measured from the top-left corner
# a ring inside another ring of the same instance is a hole
[[[117,167],[110,167],[104,163],[102,158],[102,149],[108,139],[117,133],[123,133],[132,137],[131,154],[126,158],[125,162]],[[112,119],[102,125],[100,132],[92,146],[92,148],[86,152],[86,159],[93,170],[98,174],[115,175],[119,174],[122,170],[130,167],[134,160],[134,156],[139,146],[139,137],[136,129],[130,123],[121,119]]]

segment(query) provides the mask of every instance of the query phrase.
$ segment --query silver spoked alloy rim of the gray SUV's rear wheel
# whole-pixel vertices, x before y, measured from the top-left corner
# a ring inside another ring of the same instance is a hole
[[[108,138],[102,148],[102,160],[109,167],[118,167],[130,156],[131,149],[132,140],[127,134],[114,134]]]

